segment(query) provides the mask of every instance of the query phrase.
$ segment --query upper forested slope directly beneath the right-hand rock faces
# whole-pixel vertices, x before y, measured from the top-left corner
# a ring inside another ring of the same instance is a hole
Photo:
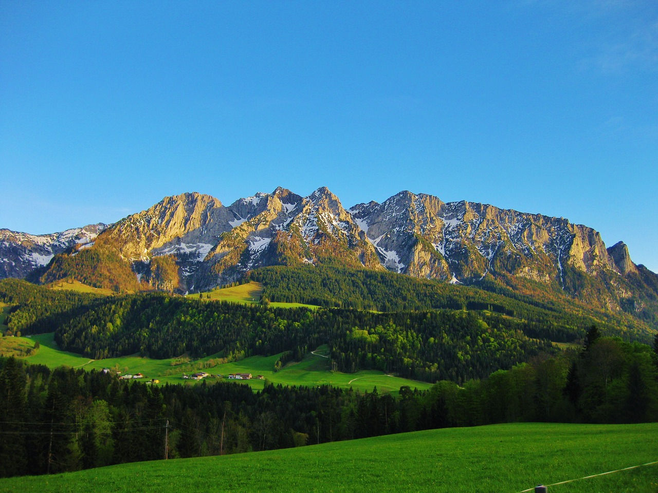
[[[271,301],[301,302],[380,312],[434,310],[489,310],[547,327],[555,342],[570,342],[584,336],[582,327],[596,324],[607,335],[650,343],[651,329],[645,321],[625,312],[601,312],[587,304],[556,296],[540,283],[524,279],[517,289],[495,281],[477,285],[450,285],[433,279],[415,279],[392,272],[348,269],[337,266],[266,267],[252,271],[246,280],[263,283],[263,297]]]

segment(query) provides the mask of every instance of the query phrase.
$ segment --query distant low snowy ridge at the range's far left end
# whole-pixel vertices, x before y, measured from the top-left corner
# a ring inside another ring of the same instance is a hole
[[[26,277],[46,266],[53,256],[89,245],[107,225],[89,224],[49,235],[0,229],[0,279]]]

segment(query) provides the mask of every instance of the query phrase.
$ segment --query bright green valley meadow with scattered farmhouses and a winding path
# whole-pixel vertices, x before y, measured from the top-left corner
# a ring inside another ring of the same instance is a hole
[[[22,344],[25,348],[34,347],[34,342],[39,341],[40,347],[36,354],[27,356],[25,360],[31,364],[42,364],[54,368],[60,365],[68,365],[87,370],[110,368],[122,373],[143,373],[145,380],[159,379],[164,383],[188,383],[190,385],[197,381],[182,378],[183,373],[194,373],[203,369],[211,375],[228,375],[229,373],[251,373],[263,375],[266,380],[238,380],[236,384],[243,383],[251,388],[262,389],[266,381],[275,385],[305,385],[317,387],[318,385],[333,385],[334,387],[349,388],[355,390],[372,390],[377,387],[379,392],[398,392],[403,385],[411,388],[425,389],[432,384],[415,380],[385,375],[382,371],[361,370],[356,373],[341,373],[330,371],[329,360],[326,357],[328,349],[320,346],[316,354],[307,354],[301,362],[291,362],[280,371],[274,371],[274,364],[281,354],[273,356],[250,356],[238,362],[212,364],[211,360],[218,358],[218,354],[211,354],[199,360],[193,360],[180,365],[172,365],[178,358],[166,360],[154,360],[142,358],[141,356],[122,356],[121,358],[107,358],[105,360],[90,360],[80,354],[62,351],[57,348],[54,333],[38,334],[32,337],[8,337],[14,344]],[[9,356],[9,354],[7,354]],[[217,381],[215,377],[209,377],[207,381]]]

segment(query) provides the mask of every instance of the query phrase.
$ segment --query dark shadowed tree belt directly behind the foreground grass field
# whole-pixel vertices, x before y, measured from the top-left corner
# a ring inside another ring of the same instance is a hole
[[[0,360],[0,476],[230,454],[506,421],[658,420],[654,348],[598,337],[462,386],[398,397],[331,387],[146,385]],[[168,446],[165,450],[165,435]]]

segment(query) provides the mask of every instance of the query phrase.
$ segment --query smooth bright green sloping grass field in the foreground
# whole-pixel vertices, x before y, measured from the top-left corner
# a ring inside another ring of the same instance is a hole
[[[658,460],[658,423],[513,423],[395,434],[252,452],[0,480],[5,492],[487,492],[578,479]],[[658,465],[550,493],[658,490]]]

